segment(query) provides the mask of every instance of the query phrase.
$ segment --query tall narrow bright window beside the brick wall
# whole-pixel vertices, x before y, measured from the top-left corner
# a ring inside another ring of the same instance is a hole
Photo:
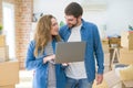
[[[6,42],[9,45],[9,58],[16,58],[16,43],[14,43],[14,7],[11,3],[2,3],[3,13],[3,33],[6,34]]]

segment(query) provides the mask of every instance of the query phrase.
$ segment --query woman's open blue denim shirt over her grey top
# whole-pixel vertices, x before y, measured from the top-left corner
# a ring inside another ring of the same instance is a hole
[[[57,41],[52,41],[53,52],[55,52]],[[31,41],[28,47],[25,68],[28,70],[34,69],[33,75],[33,88],[48,88],[48,63],[43,64],[43,57],[45,54],[34,57],[33,52],[35,48],[35,42]],[[57,88],[65,88],[65,75],[64,68],[61,64],[55,64],[55,77],[57,77]]]

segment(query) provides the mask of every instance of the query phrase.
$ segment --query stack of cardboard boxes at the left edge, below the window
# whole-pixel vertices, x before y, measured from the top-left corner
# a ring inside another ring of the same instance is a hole
[[[6,35],[0,35],[0,88],[16,88],[19,82],[19,63],[9,61]]]

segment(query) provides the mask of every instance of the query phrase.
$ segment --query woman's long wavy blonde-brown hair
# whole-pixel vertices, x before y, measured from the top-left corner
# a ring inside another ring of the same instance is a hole
[[[51,14],[45,14],[38,21],[35,33],[34,33],[34,41],[35,41],[35,50],[34,56],[42,55],[44,52],[44,47],[50,42],[51,38],[51,26],[52,22],[51,19],[54,16]],[[55,19],[55,18],[54,18]],[[61,41],[59,35],[53,36],[57,41]]]

